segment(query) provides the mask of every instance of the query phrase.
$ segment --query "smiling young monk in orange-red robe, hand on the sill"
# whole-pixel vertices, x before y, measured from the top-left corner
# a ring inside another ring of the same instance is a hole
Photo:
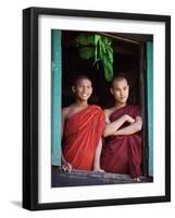
[[[92,84],[87,76],[78,76],[72,86],[75,102],[62,110],[62,169],[102,171],[100,154],[104,131],[104,113],[100,107],[88,105]]]

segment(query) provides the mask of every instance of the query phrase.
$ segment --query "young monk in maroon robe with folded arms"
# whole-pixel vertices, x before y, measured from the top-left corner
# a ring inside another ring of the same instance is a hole
[[[129,86],[123,76],[112,81],[110,89],[115,105],[104,110],[105,145],[101,155],[101,167],[107,172],[130,174],[136,181],[141,175],[142,120],[138,106],[127,105]]]

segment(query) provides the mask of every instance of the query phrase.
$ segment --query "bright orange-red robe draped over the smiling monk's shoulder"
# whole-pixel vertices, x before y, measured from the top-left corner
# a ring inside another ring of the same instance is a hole
[[[92,170],[95,153],[104,130],[104,113],[96,105],[71,117],[63,131],[63,155],[73,169]]]

